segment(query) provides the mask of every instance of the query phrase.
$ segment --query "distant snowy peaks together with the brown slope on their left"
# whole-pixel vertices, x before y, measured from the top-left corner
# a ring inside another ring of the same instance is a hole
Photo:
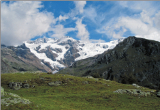
[[[25,41],[19,46],[1,45],[1,73],[18,71],[57,72],[75,61],[102,54],[113,49],[124,38],[107,43],[75,40],[38,38]]]

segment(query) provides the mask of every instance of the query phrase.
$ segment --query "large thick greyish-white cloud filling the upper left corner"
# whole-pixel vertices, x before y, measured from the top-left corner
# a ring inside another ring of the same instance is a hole
[[[1,43],[19,45],[25,40],[42,35],[56,20],[52,13],[39,12],[38,1],[1,3]]]

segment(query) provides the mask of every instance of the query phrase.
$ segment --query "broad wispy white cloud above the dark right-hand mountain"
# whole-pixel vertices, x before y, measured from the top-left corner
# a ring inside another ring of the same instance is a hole
[[[112,18],[96,31],[111,39],[128,37],[123,35],[130,31],[136,37],[160,41],[160,11],[149,3],[151,2],[120,2],[121,6],[132,9],[132,12],[138,10],[139,14]]]

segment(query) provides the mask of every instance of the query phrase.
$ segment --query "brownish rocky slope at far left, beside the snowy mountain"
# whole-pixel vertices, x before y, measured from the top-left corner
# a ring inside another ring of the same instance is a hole
[[[1,73],[11,73],[18,71],[51,71],[41,61],[30,52],[25,44],[14,47],[1,46]]]

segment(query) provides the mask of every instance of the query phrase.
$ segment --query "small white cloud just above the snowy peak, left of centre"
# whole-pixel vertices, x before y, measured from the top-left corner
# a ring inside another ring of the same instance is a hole
[[[59,25],[55,25],[50,30],[54,32],[54,34],[51,37],[63,38],[66,36],[68,32],[75,31],[76,29],[75,28],[64,28],[63,25],[59,24]]]

